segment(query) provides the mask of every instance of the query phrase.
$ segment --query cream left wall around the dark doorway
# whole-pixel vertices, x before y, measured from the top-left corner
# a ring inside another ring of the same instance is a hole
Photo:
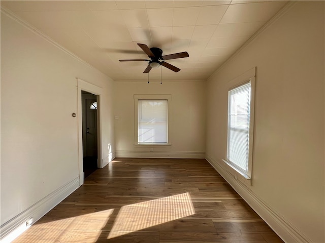
[[[113,80],[1,14],[2,225],[19,223],[15,217],[42,200],[46,213],[60,190],[79,179],[76,77],[103,89],[107,159],[114,142]],[[39,216],[28,212],[19,220]]]

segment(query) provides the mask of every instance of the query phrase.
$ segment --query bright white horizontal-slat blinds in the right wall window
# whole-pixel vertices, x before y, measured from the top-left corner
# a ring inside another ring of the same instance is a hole
[[[250,82],[229,91],[227,160],[248,172]]]

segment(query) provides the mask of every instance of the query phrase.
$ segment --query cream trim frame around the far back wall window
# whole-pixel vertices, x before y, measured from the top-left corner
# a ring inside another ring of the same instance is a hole
[[[167,100],[168,105],[168,127],[167,127],[167,143],[139,143],[138,142],[138,101],[139,100]],[[172,95],[134,95],[134,141],[136,147],[171,147],[170,142],[170,107]]]

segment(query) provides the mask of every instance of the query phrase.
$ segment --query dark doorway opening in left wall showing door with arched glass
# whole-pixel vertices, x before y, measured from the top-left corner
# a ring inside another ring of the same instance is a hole
[[[82,101],[82,157],[84,178],[98,169],[98,99],[81,91]]]

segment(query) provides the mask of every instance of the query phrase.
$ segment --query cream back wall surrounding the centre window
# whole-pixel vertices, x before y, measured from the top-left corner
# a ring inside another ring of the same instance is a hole
[[[171,148],[135,148],[134,95],[172,95],[169,116]],[[117,156],[204,157],[205,82],[115,82]]]

